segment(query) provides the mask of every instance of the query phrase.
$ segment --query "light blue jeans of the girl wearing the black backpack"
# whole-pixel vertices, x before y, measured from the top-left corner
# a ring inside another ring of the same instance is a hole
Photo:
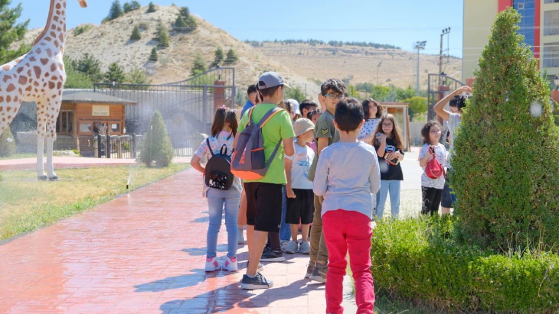
[[[221,228],[221,215],[225,207],[225,227],[227,229],[227,256],[234,258],[237,256],[237,246],[239,234],[237,230],[237,217],[239,215],[239,204],[241,194],[235,187],[228,191],[210,189],[208,191],[208,211],[210,213],[210,226],[207,234],[207,258],[214,258],[217,255],[217,235]]]

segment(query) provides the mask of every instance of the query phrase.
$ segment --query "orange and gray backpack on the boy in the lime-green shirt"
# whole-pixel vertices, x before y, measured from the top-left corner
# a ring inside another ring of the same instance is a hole
[[[272,119],[276,113],[281,112],[283,109],[270,109],[258,123],[252,120],[253,110],[254,107],[250,109],[248,114],[247,127],[239,134],[237,147],[233,153],[233,161],[231,161],[231,172],[233,175],[243,180],[259,180],[263,178],[274,160],[274,157],[276,157],[276,153],[278,149],[280,149],[282,143],[281,140],[277,143],[276,149],[274,149],[266,163],[262,127]]]

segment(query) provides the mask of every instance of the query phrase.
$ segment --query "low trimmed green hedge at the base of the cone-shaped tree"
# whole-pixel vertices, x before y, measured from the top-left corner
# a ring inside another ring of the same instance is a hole
[[[454,239],[456,217],[383,221],[372,236],[378,295],[433,310],[553,313],[559,307],[559,257],[483,250]]]

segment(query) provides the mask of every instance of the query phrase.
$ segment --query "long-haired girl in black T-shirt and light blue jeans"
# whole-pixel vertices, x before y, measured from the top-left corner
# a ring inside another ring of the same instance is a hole
[[[404,181],[400,161],[404,160],[404,141],[394,115],[387,114],[377,124],[373,146],[381,171],[381,188],[376,194],[376,216],[382,219],[386,198],[390,191],[392,219],[400,214],[400,183]]]

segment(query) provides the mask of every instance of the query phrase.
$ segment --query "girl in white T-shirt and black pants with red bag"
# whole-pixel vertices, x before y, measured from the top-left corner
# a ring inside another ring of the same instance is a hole
[[[421,129],[423,147],[419,153],[419,166],[424,172],[421,175],[421,194],[423,206],[421,214],[433,216],[439,212],[440,198],[444,188],[444,168],[447,151],[439,143],[442,126],[437,121],[427,122]]]

